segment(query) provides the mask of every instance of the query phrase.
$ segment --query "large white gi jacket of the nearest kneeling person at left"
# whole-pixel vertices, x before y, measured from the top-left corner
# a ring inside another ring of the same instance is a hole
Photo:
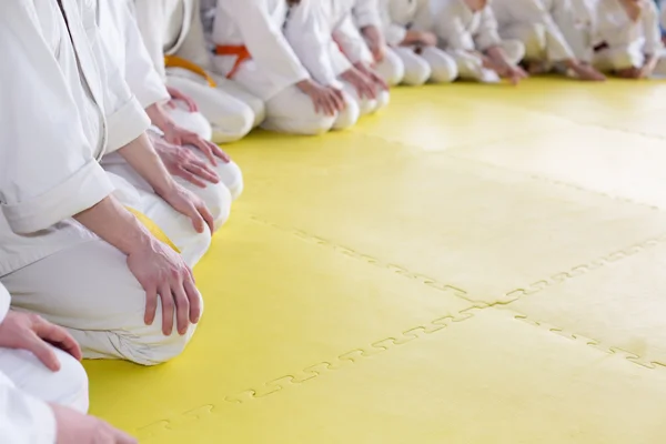
[[[98,239],[71,216],[113,191],[99,160],[149,127],[89,0],[12,0],[0,14],[0,276]],[[71,34],[71,39],[70,39]]]

